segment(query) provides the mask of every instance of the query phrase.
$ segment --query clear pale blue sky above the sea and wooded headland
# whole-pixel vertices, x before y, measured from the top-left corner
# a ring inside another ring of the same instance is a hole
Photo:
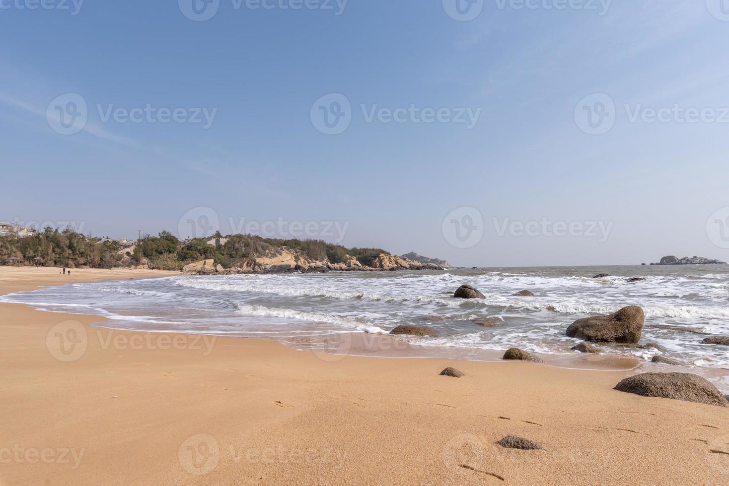
[[[466,266],[729,259],[707,231],[729,207],[729,22],[718,0],[484,0],[469,21],[448,15],[451,0],[219,0],[205,21],[185,17],[184,1],[89,1],[71,15],[71,0],[0,0],[0,220],[133,237],[178,232],[205,207],[224,233],[231,221],[336,221],[347,246]],[[47,117],[67,93],[87,104],[73,135]],[[324,135],[313,105],[332,93],[351,122]],[[594,94],[615,103],[600,135],[580,121]],[[105,120],[110,105],[214,117],[209,127]],[[410,105],[478,116],[472,127],[367,119]],[[676,105],[710,111],[694,123],[675,110],[650,118]],[[483,236],[454,244],[447,215],[473,214],[459,208],[475,209]],[[576,231],[510,226],[542,220]]]

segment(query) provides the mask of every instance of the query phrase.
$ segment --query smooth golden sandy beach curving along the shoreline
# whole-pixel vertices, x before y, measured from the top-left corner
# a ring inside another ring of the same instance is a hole
[[[0,267],[0,294],[163,275]],[[634,372],[321,356],[19,304],[0,316],[1,485],[729,482],[729,408],[613,389]],[[494,445],[509,434],[546,450]]]

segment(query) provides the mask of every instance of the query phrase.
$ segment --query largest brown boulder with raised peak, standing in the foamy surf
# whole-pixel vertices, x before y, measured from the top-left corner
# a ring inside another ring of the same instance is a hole
[[[577,319],[569,325],[566,335],[597,343],[637,344],[644,322],[643,309],[628,306],[607,316]]]

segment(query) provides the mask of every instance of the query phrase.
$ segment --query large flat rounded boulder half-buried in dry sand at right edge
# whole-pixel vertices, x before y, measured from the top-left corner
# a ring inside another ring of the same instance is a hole
[[[686,402],[727,406],[727,399],[717,387],[690,373],[643,373],[620,381],[616,390],[634,393],[642,397],[660,397]]]

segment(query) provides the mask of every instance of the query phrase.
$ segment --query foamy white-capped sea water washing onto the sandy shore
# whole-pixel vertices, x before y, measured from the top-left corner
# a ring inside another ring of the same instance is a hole
[[[593,279],[599,273],[607,278]],[[628,284],[632,276],[647,280]],[[468,283],[485,300],[452,297]],[[534,297],[514,296],[531,290]],[[125,330],[179,331],[281,340],[301,349],[377,356],[494,359],[518,346],[547,361],[577,356],[564,331],[575,319],[628,306],[646,314],[642,343],[666,351],[601,346],[608,355],[655,354],[704,369],[729,388],[729,347],[701,344],[729,335],[729,266],[479,268],[420,272],[172,276],[47,287],[7,295],[47,311],[100,314]],[[496,320],[482,327],[480,319]],[[428,325],[437,338],[372,338],[399,324]],[[660,326],[691,328],[675,330]],[[351,338],[351,333],[359,338]],[[365,334],[366,333],[366,334]],[[343,344],[343,335],[349,335]]]

